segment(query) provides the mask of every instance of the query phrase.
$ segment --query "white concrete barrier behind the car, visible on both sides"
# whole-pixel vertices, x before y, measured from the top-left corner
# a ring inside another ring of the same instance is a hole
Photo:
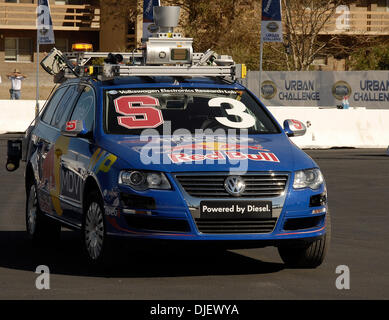
[[[43,107],[45,101],[40,101]],[[34,119],[35,101],[0,100],[0,134],[23,132]],[[300,148],[387,148],[389,110],[318,107],[269,107],[282,125],[285,119],[297,119],[307,125],[307,133],[292,138]]]

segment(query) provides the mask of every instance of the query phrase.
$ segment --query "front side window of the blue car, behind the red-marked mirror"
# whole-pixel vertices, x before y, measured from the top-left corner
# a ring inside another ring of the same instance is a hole
[[[93,129],[95,109],[95,93],[90,87],[85,87],[74,107],[70,120],[84,120],[88,131]]]

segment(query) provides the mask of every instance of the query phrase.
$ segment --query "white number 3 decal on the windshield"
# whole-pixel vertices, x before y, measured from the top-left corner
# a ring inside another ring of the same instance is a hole
[[[229,114],[230,116],[238,116],[241,118],[241,121],[235,122],[228,120],[227,117],[215,117],[215,119],[219,121],[222,125],[238,129],[247,129],[255,125],[255,118],[245,112],[246,106],[238,100],[234,100],[231,98],[213,98],[209,100],[208,105],[210,107],[221,107],[222,103],[228,103],[232,106],[232,109],[225,110],[227,114]]]

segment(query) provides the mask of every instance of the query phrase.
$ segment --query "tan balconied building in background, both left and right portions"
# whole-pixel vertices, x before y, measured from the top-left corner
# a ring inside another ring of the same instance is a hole
[[[54,25],[55,46],[68,51],[73,43],[92,43],[94,50],[132,50],[142,36],[143,0],[49,0]],[[116,7],[112,5],[116,3]],[[118,8],[120,6],[120,8]],[[10,83],[6,74],[19,69],[28,76],[22,88],[23,99],[35,99],[37,0],[0,0],[0,99],[8,99]],[[321,31],[322,39],[334,34],[353,41],[357,36],[389,38],[389,0],[355,0],[349,5],[346,27],[337,22],[338,12]],[[344,18],[345,16],[343,16]],[[52,46],[40,46],[39,60]],[[346,70],[347,57],[329,54],[315,60],[317,69]],[[53,87],[52,77],[40,72],[40,98]]]

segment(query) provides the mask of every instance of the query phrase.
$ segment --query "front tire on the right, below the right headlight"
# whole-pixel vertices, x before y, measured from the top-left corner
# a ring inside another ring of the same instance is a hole
[[[331,217],[329,212],[326,215],[326,234],[305,246],[291,247],[281,245],[278,252],[281,259],[288,267],[292,268],[317,268],[320,266],[329,249],[331,239]]]

